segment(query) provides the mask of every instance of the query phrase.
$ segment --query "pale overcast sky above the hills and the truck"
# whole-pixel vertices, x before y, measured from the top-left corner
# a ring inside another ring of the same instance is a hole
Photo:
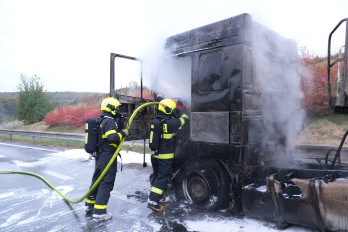
[[[168,36],[241,13],[325,55],[348,0],[0,0],[0,92],[20,74],[47,91],[109,92],[111,52],[147,57]]]

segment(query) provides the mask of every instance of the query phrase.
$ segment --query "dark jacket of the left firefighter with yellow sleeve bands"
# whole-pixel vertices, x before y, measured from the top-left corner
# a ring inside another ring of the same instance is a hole
[[[109,112],[103,111],[100,115],[102,121],[99,125],[101,128],[101,146],[99,146],[99,153],[102,151],[115,152],[120,141],[126,136],[122,130],[118,129],[113,115]]]

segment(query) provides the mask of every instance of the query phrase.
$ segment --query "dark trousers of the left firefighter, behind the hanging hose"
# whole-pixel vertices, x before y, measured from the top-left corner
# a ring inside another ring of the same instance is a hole
[[[92,183],[90,187],[95,183],[95,181],[100,176],[101,172],[104,170],[106,165],[109,163],[113,153],[101,152],[95,159],[95,168],[92,176]],[[105,214],[107,203],[110,198],[110,192],[113,189],[115,178],[117,172],[117,157],[113,161],[109,170],[106,172],[104,177],[99,182],[98,186],[90,193],[86,199],[86,206],[93,206],[93,214]],[[90,188],[89,187],[89,188]]]

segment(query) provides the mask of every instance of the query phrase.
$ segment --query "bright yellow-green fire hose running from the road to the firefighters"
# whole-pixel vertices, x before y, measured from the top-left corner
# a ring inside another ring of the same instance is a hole
[[[129,118],[129,121],[128,121],[128,124],[126,126],[127,129],[129,129],[130,125],[132,124],[132,121],[135,117],[135,115],[139,112],[139,110],[141,110],[142,108],[148,106],[148,105],[158,105],[159,102],[148,102],[148,103],[145,103],[145,104],[142,104],[141,106],[139,106],[134,112],[133,114],[131,115],[131,117]],[[36,173],[33,173],[33,172],[27,172],[27,171],[0,171],[0,173],[19,173],[19,174],[27,174],[27,175],[32,175],[32,176],[35,176],[39,179],[41,179],[42,181],[44,181],[51,189],[53,189],[54,191],[56,191],[59,196],[61,196],[64,200],[70,202],[70,203],[80,203],[82,202],[83,200],[85,200],[87,198],[87,196],[90,195],[90,193],[94,190],[94,188],[99,184],[99,182],[101,181],[101,179],[104,177],[104,175],[106,174],[106,172],[109,170],[111,164],[113,163],[113,161],[116,159],[119,151],[121,150],[122,148],[122,145],[123,145],[123,141],[124,141],[125,138],[123,138],[121,140],[121,142],[119,143],[119,145],[117,146],[117,149],[116,149],[116,152],[112,155],[109,163],[106,165],[106,167],[104,168],[104,170],[101,172],[99,178],[94,182],[94,184],[92,185],[92,187],[87,191],[87,193],[82,196],[80,199],[78,200],[71,200],[69,199],[68,197],[66,197],[61,191],[59,191],[56,187],[54,187],[48,180],[46,180],[44,177],[42,177],[41,175],[39,174],[36,174]]]

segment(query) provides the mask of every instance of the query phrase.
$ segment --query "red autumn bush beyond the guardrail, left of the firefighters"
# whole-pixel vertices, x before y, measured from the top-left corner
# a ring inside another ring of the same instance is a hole
[[[91,103],[79,103],[74,106],[57,107],[54,111],[46,114],[44,122],[48,126],[68,124],[78,128],[85,124],[87,118],[97,118],[101,114],[99,104],[96,101]]]

